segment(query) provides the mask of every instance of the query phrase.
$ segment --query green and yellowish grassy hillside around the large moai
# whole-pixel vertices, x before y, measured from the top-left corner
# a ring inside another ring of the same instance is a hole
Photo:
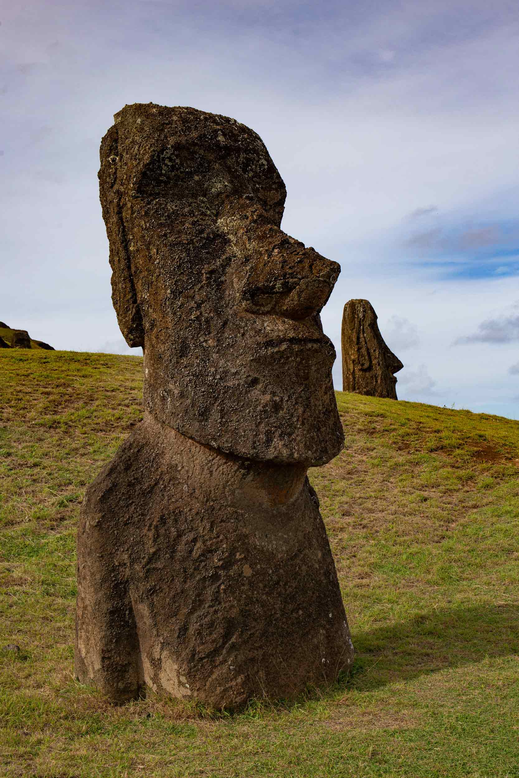
[[[519,776],[519,422],[493,415],[338,392],[345,449],[310,472],[357,650],[337,685],[230,717],[75,682],[75,522],[141,370],[0,352],[2,776]]]

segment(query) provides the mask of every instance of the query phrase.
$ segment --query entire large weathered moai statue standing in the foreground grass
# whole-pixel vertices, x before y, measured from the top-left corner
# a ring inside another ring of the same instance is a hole
[[[279,229],[244,124],[126,106],[100,157],[145,416],[82,504],[76,675],[231,709],[331,682],[353,647],[307,468],[343,443],[319,317],[340,268]]]

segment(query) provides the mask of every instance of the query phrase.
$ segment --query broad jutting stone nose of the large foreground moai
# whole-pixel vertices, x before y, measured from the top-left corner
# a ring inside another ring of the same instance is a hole
[[[241,287],[245,310],[306,319],[321,311],[341,267],[277,228],[258,235]]]

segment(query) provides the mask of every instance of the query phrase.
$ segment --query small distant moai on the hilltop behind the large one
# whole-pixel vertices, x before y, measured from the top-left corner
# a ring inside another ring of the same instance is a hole
[[[349,300],[342,314],[342,391],[397,400],[403,364],[387,348],[369,300]]]

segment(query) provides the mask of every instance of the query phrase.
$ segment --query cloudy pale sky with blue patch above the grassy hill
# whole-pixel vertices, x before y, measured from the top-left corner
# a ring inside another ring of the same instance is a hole
[[[519,6],[482,0],[0,2],[0,320],[128,349],[110,300],[100,138],[125,103],[261,136],[282,228],[366,298],[402,400],[519,419]]]

